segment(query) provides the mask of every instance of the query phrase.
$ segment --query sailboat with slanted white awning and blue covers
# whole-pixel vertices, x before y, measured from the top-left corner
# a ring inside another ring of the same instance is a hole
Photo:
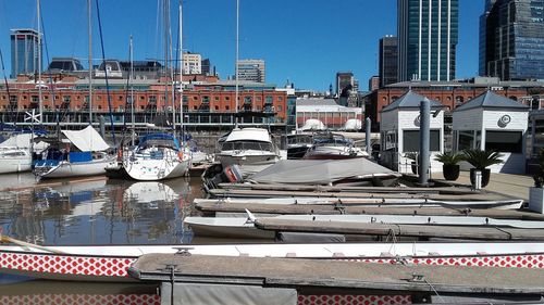
[[[44,152],[44,158],[34,165],[38,178],[65,178],[106,174],[106,166],[114,156],[110,148],[92,126],[73,131],[62,130],[65,140]],[[64,144],[64,148],[61,145]]]

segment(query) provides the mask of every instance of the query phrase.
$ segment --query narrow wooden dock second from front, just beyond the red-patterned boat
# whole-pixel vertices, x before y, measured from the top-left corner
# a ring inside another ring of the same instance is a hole
[[[255,226],[276,232],[341,233],[349,236],[382,236],[411,238],[444,238],[468,240],[531,240],[543,241],[544,230],[497,228],[493,226],[462,227],[434,225],[359,224],[347,221],[311,221],[293,219],[258,218]]]

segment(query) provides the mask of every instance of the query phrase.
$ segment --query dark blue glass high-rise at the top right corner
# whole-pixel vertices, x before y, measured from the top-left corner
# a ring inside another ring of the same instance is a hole
[[[493,34],[485,37],[489,49],[480,49],[486,74],[502,80],[544,79],[544,0],[496,0],[486,9],[485,33]]]

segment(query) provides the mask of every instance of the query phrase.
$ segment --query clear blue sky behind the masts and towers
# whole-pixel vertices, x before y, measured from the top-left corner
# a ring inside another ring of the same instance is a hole
[[[101,59],[96,0],[92,58]],[[99,0],[106,58],[162,59],[158,0]],[[177,0],[171,0],[177,40]],[[361,90],[378,75],[379,39],[396,35],[396,0],[239,0],[239,59],[263,59],[267,82],[325,91],[336,72],[351,71]],[[459,0],[457,78],[478,73],[479,16],[484,0]],[[0,0],[0,50],[11,72],[10,29],[37,27],[36,0]],[[79,58],[87,66],[87,0],[41,0],[49,59]],[[236,0],[184,0],[183,49],[200,53],[220,78],[234,75]],[[174,43],[174,48],[176,45]],[[47,62],[46,54],[44,61]],[[0,73],[1,75],[1,73]],[[3,77],[3,75],[1,75]]]

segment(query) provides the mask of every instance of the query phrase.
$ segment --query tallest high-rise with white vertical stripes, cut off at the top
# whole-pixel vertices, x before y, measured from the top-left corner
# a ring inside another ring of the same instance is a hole
[[[455,78],[459,0],[398,0],[398,81]]]

